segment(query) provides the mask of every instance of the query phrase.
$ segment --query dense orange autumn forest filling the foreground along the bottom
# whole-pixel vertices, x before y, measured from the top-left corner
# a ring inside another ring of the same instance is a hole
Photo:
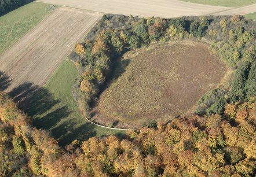
[[[61,148],[0,94],[0,176],[254,176],[256,97],[223,115],[73,141]]]

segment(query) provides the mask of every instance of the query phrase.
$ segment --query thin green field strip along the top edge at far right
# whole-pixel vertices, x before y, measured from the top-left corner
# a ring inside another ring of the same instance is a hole
[[[181,0],[193,3],[202,3],[204,5],[239,7],[256,3],[256,0]]]

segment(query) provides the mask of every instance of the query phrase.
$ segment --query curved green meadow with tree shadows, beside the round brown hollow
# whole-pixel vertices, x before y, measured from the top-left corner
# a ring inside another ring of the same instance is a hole
[[[74,81],[78,70],[74,63],[65,60],[45,86],[45,91],[38,95],[34,105],[30,106],[30,115],[37,128],[52,131],[60,145],[67,145],[74,139],[86,140],[90,137],[102,137],[115,134],[122,136],[125,131],[101,128],[84,120],[78,109],[78,104],[72,95]],[[44,100],[45,102],[43,103]],[[43,108],[36,109],[45,105]]]

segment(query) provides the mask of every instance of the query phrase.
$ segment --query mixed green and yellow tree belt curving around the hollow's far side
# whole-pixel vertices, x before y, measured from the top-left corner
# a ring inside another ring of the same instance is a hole
[[[200,98],[196,114],[222,114],[226,103],[248,101],[256,95],[253,20],[238,15],[144,19],[108,14],[70,55],[80,71],[74,93],[84,116],[90,119],[90,110],[111,75],[116,58],[150,43],[175,40],[209,43],[211,53],[232,70],[224,84]]]

